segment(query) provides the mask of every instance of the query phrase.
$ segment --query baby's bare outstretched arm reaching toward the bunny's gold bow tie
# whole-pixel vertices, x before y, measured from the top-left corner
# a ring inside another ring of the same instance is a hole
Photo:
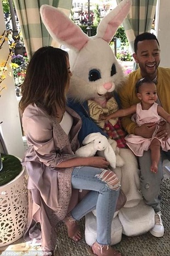
[[[131,115],[135,112],[137,112],[137,105],[132,105],[131,107],[124,108],[123,110],[117,110],[116,112],[108,116],[100,115],[100,120],[108,121],[111,118],[124,117],[124,116]]]

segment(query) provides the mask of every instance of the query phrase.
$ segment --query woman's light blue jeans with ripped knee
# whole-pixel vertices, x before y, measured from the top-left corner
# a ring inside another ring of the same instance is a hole
[[[111,243],[111,222],[114,217],[120,190],[116,174],[109,170],[90,166],[75,167],[72,172],[72,187],[90,192],[71,211],[73,219],[80,220],[96,209],[97,242]]]

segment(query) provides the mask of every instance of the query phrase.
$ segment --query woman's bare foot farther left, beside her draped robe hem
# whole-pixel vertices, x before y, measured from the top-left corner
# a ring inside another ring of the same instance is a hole
[[[82,238],[81,232],[80,232],[80,226],[78,225],[78,222],[73,219],[71,214],[68,214],[63,222],[67,226],[68,236],[75,242],[80,241]]]

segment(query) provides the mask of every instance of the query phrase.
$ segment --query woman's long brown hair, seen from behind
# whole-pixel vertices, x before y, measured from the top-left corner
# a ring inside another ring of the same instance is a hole
[[[50,116],[58,116],[56,104],[65,110],[69,81],[66,57],[66,51],[52,46],[41,47],[33,54],[21,85],[21,112],[34,103]]]

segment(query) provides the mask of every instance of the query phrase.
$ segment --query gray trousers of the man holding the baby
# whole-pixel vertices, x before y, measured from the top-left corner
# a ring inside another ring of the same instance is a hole
[[[158,164],[157,173],[150,171],[151,166],[151,151],[144,151],[144,155],[138,157],[140,168],[140,189],[146,204],[152,206],[157,213],[160,211],[160,187],[163,179],[162,162],[163,159],[170,161],[170,150],[162,151],[161,160]]]

